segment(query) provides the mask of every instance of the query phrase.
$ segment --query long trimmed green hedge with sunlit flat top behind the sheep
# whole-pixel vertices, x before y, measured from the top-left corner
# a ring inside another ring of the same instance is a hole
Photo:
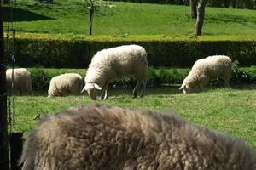
[[[10,41],[10,40],[9,40]],[[142,45],[154,67],[190,67],[195,60],[226,54],[241,65],[256,65],[256,36],[78,36],[20,34],[15,39],[15,65],[23,67],[87,68],[102,48]]]

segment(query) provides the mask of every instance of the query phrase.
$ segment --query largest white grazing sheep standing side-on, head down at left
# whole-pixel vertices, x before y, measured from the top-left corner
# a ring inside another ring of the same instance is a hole
[[[109,82],[125,75],[134,75],[137,78],[137,85],[132,91],[133,97],[137,97],[137,88],[141,85],[143,97],[147,83],[147,66],[147,53],[141,46],[125,45],[103,49],[91,59],[82,92],[87,91],[90,99],[95,100],[96,90],[102,90],[101,99],[107,99]]]

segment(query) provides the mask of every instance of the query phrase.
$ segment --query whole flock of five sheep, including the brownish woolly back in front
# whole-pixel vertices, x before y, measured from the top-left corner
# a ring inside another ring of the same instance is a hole
[[[231,65],[231,59],[224,55],[199,59],[180,89],[187,94],[193,88],[204,88],[214,78],[223,78],[228,86]],[[137,97],[137,89],[142,87],[143,97],[147,66],[143,47],[103,49],[91,59],[84,88],[82,77],[69,73],[53,77],[48,93],[58,96],[87,91],[95,100],[96,91],[102,90],[100,99],[108,99],[109,82],[134,75],[137,85],[132,95]],[[24,80],[31,79],[24,69],[15,70],[13,75],[18,73]],[[15,88],[32,91],[31,82],[22,86]],[[23,170],[255,170],[256,152],[241,139],[195,126],[172,112],[93,104],[44,118],[26,139],[20,163]]]

